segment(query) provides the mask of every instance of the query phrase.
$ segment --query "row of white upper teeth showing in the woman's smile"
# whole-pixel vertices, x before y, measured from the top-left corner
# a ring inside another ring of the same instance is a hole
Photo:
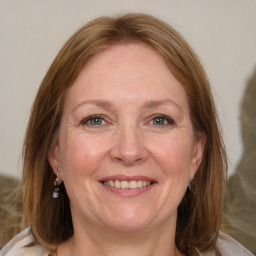
[[[108,181],[103,181],[103,184],[112,188],[135,189],[135,188],[147,187],[151,184],[151,182],[145,181],[145,180],[132,180],[132,181],[108,180]]]

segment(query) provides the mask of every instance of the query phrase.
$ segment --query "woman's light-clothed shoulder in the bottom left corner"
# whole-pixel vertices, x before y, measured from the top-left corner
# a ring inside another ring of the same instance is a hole
[[[0,256],[48,256],[41,245],[28,246],[33,241],[31,228],[27,228],[2,248]]]

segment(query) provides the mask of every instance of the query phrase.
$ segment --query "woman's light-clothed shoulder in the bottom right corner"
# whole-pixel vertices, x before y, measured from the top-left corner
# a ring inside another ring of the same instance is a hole
[[[221,256],[253,256],[245,247],[230,236],[220,232],[217,249]],[[199,253],[200,256],[217,256],[215,252]]]

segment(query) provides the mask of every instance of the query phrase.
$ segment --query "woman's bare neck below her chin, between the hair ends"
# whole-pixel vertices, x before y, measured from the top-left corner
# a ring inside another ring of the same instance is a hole
[[[175,246],[175,225],[140,231],[90,227],[75,229],[74,236],[58,247],[58,256],[180,256]]]

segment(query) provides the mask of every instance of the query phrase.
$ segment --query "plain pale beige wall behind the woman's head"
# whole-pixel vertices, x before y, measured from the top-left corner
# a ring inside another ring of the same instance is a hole
[[[29,109],[62,44],[86,21],[127,11],[164,19],[198,53],[234,171],[243,151],[240,104],[256,67],[255,0],[0,0],[0,173],[20,176]]]

